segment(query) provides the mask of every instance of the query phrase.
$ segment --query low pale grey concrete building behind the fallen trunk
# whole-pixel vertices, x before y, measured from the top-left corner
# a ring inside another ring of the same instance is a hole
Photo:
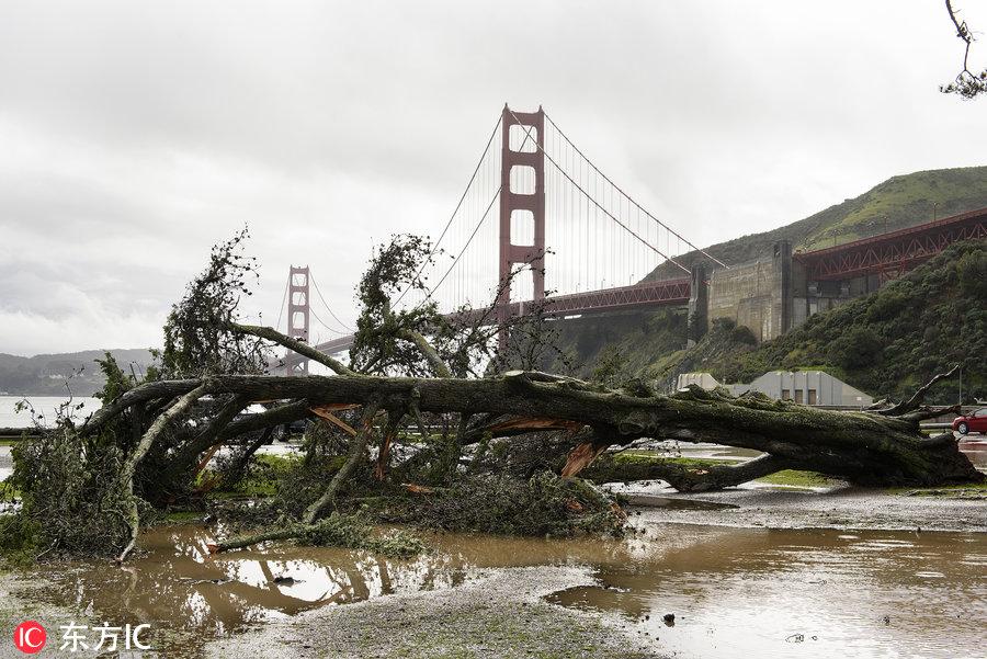
[[[734,396],[759,391],[775,400],[794,400],[820,407],[862,408],[874,398],[824,371],[771,371],[750,384],[721,385],[708,373],[683,373],[678,388],[699,385],[704,389],[722,386]]]

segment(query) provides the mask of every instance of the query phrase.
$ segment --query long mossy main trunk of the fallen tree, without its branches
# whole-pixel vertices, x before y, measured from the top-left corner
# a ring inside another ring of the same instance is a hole
[[[159,398],[161,389],[180,396],[200,386],[212,395],[304,400],[308,407],[377,401],[386,409],[416,406],[422,412],[531,418],[541,428],[546,419],[554,419],[559,427],[587,427],[593,438],[591,445],[583,448],[588,453],[581,466],[600,446],[651,438],[753,448],[778,459],[778,465],[759,463],[759,470],[772,466],[805,468],[856,484],[938,485],[984,479],[958,451],[951,434],[926,438],[919,432],[919,421],[935,412],[917,409],[920,401],[898,406],[894,411],[901,416],[893,417],[887,410],[839,412],[760,395],[734,398],[722,390],[699,388],[673,396],[611,390],[571,378],[524,372],[485,379],[308,375],[217,376],[205,382],[152,383],[128,391],[123,397],[127,405],[117,401],[101,409],[89,427],[98,428],[128,405]],[[288,405],[296,407],[281,409],[303,413],[297,404]],[[271,418],[280,420],[284,414]],[[502,421],[499,423],[506,427]],[[506,433],[519,431],[517,424],[507,425],[510,431]],[[476,435],[474,430],[469,432]],[[742,471],[730,474],[726,479],[719,474],[716,477],[729,482],[744,476]],[[683,489],[717,487],[713,478],[706,479],[708,484],[702,480],[679,478]]]

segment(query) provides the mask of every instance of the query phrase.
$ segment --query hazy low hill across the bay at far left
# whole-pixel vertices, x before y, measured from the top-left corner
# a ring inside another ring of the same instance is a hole
[[[75,396],[90,396],[103,386],[95,360],[106,351],[84,350],[22,357],[0,353],[0,391],[9,396],[63,396],[68,382]],[[148,350],[111,350],[126,373],[133,364],[140,375],[152,363]]]

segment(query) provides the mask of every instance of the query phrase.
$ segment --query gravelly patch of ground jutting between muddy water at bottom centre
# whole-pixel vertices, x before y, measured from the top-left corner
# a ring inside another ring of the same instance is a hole
[[[378,598],[266,624],[209,644],[206,656],[659,657],[643,635],[542,600],[591,582],[579,568],[495,569],[450,590]]]

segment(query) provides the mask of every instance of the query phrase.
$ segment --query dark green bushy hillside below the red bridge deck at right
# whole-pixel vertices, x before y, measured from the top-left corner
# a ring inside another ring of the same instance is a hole
[[[964,363],[964,399],[987,398],[987,242],[957,242],[876,293],[817,314],[796,330],[753,345],[733,323],[716,323],[693,349],[656,361],[670,382],[704,371],[724,383],[776,368],[821,368],[874,395],[900,399],[935,373]],[[955,402],[958,379],[931,402]]]

